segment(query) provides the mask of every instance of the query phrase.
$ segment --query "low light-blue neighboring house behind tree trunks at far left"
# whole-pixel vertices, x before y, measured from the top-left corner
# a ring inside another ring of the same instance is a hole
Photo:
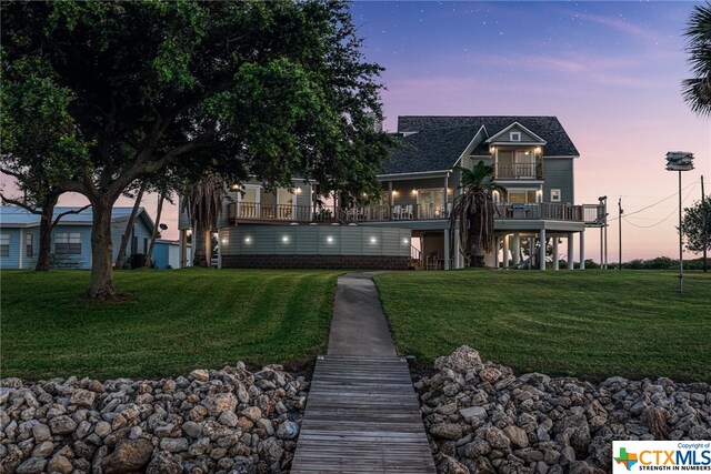
[[[54,208],[54,218],[81,208]],[[111,212],[112,259],[116,260],[131,208],[113,208]],[[78,214],[64,215],[52,231],[52,268],[91,268],[91,208]],[[0,206],[0,269],[33,269],[40,239],[40,216],[22,208]],[[148,251],[153,221],[139,209],[127,255]]]

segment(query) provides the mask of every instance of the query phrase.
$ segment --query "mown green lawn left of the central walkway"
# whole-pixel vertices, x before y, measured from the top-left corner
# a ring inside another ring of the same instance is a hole
[[[151,377],[324,351],[340,272],[121,271],[119,303],[77,295],[86,271],[2,271],[1,376]]]

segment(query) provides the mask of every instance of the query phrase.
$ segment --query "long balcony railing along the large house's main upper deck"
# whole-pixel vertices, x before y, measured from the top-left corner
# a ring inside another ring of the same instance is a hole
[[[598,204],[560,204],[550,202],[511,204],[495,203],[497,220],[551,220],[584,222],[588,225],[602,225],[603,206]],[[361,223],[382,221],[423,221],[449,218],[452,204],[378,204],[358,205],[349,209],[321,206],[313,212],[309,205],[260,204],[257,202],[237,202],[229,204],[231,224],[244,221],[290,221],[290,222],[331,222]]]

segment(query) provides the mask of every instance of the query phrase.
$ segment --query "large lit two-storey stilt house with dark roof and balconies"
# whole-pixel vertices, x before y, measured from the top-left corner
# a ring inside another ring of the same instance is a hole
[[[487,265],[544,270],[545,252],[535,249],[550,239],[553,269],[565,250],[560,243],[565,241],[570,261],[575,240],[584,268],[584,231],[603,225],[605,211],[600,203],[575,204],[580,153],[555,117],[409,115],[399,118],[394,135],[402,147],[378,175],[378,196],[319,196],[313,184],[298,179],[276,192],[258,182],[230,190],[217,229],[221,266],[334,266],[338,260],[321,253],[334,254],[336,246],[346,263],[344,254],[380,256],[356,259],[353,266],[464,266],[463,255],[451,249],[459,235],[450,235],[448,218],[460,192],[458,167],[482,160],[505,189],[493,196],[500,250],[487,255]],[[334,226],[341,228],[338,235]],[[183,246],[189,228],[181,213]]]

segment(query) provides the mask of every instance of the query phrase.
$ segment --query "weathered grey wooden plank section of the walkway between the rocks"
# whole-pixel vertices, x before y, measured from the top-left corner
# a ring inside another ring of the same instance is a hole
[[[318,359],[292,474],[435,472],[404,359]]]

